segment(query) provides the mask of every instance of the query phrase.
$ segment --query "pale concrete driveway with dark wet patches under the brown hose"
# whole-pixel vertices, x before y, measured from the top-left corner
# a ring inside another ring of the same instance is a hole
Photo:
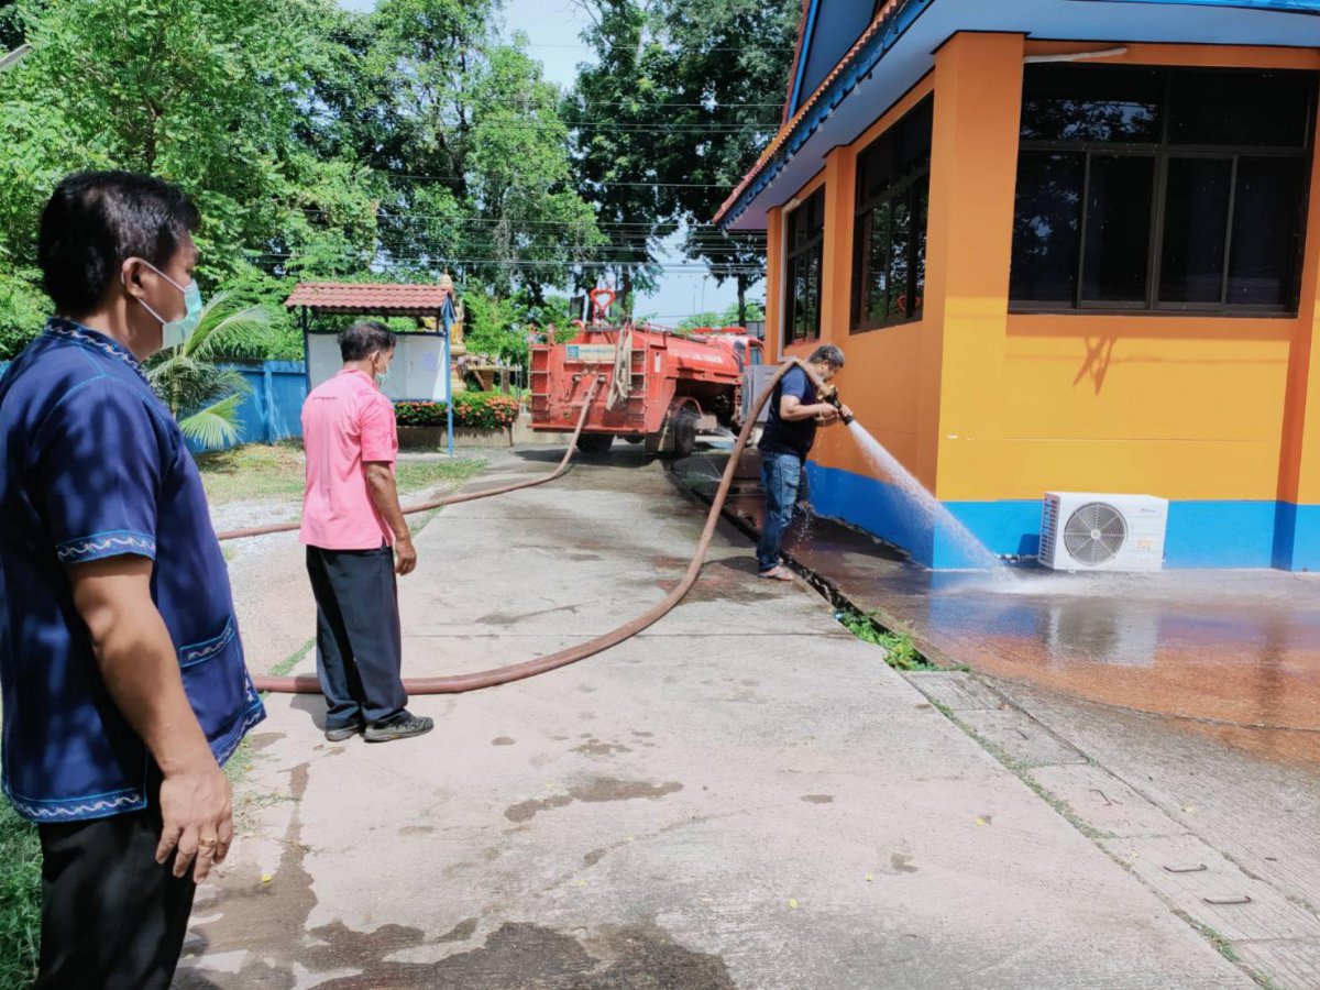
[[[492,458],[474,484],[554,459]],[[630,457],[445,510],[401,581],[407,672],[507,664],[631,619],[678,578],[701,520]],[[647,632],[414,698],[437,719],[421,739],[329,744],[319,698],[272,697],[178,986],[1251,985],[828,603],[752,570],[722,528],[694,593]],[[966,675],[928,677],[982,717]],[[1040,766],[1078,763],[1024,737]]]

